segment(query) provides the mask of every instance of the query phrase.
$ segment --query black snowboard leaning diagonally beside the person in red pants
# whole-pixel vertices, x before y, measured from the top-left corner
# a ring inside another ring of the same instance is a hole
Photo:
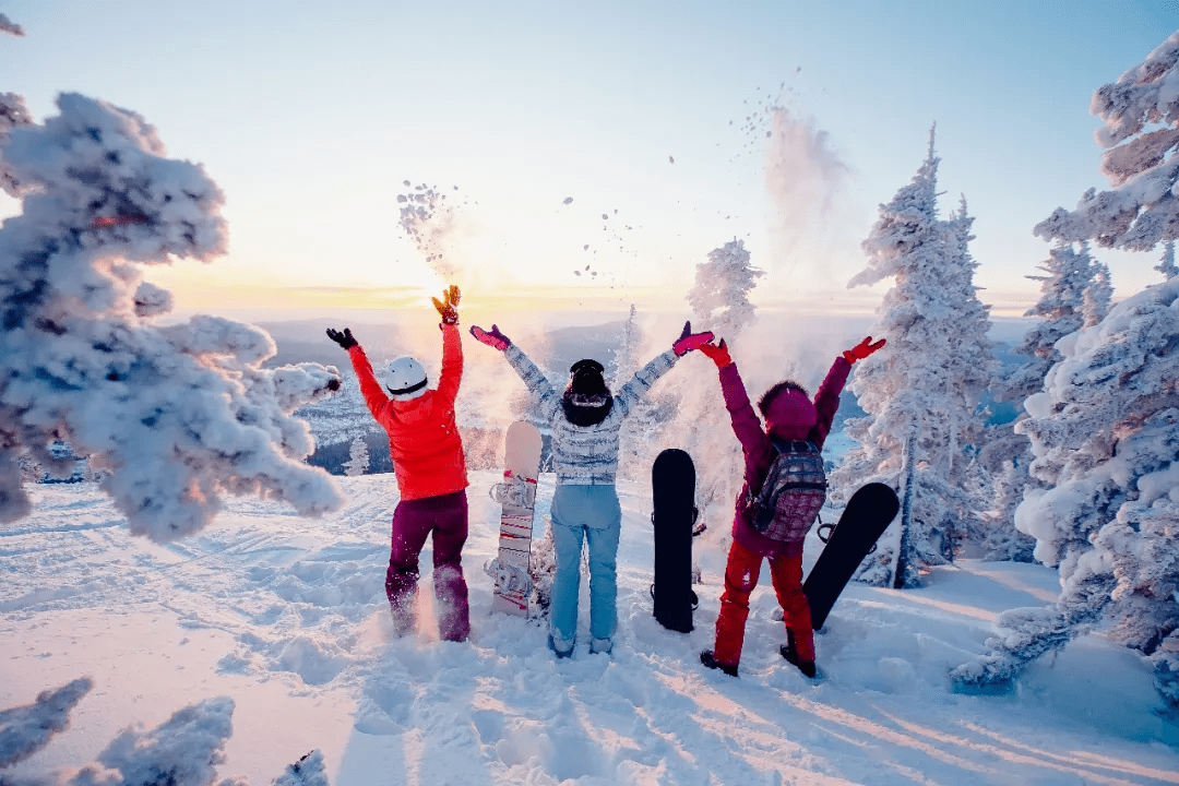
[[[839,593],[900,509],[896,491],[883,483],[869,483],[848,500],[839,523],[803,583],[812,628],[823,627]]]

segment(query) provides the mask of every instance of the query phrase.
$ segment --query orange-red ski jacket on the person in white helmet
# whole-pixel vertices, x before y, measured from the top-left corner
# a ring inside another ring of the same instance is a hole
[[[376,381],[357,344],[348,350],[361,394],[373,417],[389,435],[389,455],[402,500],[453,494],[467,488],[467,460],[454,420],[462,379],[462,341],[456,325],[442,325],[442,375],[436,390],[410,401],[393,401]]]

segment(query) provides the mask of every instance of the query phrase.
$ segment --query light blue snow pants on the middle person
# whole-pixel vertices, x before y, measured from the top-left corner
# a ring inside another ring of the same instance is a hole
[[[549,628],[561,650],[573,646],[578,632],[581,589],[581,539],[590,546],[590,634],[610,639],[618,621],[618,539],[623,508],[611,486],[558,484],[551,508],[556,575],[549,607]]]

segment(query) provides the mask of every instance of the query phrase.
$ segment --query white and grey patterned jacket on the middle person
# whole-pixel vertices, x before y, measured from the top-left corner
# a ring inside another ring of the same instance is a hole
[[[558,390],[545,374],[515,344],[503,350],[512,368],[540,399],[542,416],[553,430],[553,469],[556,482],[571,486],[610,486],[618,474],[618,431],[623,418],[647,395],[656,379],[667,374],[679,357],[670,349],[639,369],[614,394],[614,405],[601,423],[573,425],[561,407],[564,390]]]

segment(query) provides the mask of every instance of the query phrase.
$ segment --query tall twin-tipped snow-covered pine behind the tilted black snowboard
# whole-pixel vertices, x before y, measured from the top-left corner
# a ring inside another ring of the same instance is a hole
[[[868,417],[848,421],[848,435],[858,444],[831,473],[836,494],[871,481],[900,487],[905,444],[914,445],[911,508],[901,527],[908,553],[882,542],[858,574],[876,584],[894,579],[894,563],[901,566],[900,584],[918,583],[921,568],[953,559],[966,522],[976,515],[977,503],[964,489],[970,448],[984,420],[979,402],[995,359],[988,309],[973,282],[973,219],[964,204],[948,220],[937,217],[937,164],[931,130],[926,160],[913,181],[880,206],[863,243],[868,266],[848,284],[895,279],[872,330],[888,345],[856,365],[849,385]]]

